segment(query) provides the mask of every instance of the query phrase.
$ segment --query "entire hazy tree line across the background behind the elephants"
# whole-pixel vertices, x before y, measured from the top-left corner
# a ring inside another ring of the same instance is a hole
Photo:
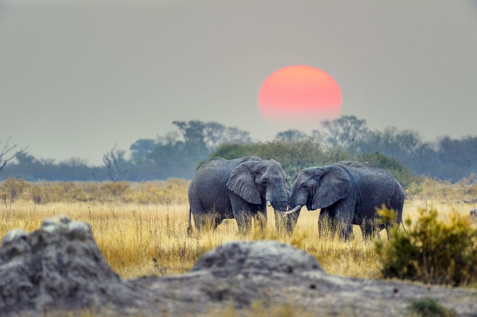
[[[190,179],[200,162],[210,157],[257,155],[274,158],[290,178],[301,168],[332,164],[343,159],[369,161],[399,176],[405,185],[415,176],[457,181],[477,171],[477,137],[449,136],[425,141],[418,132],[388,127],[371,130],[365,119],[342,116],[322,121],[316,130],[278,133],[267,142],[252,142],[249,132],[218,122],[173,121],[175,130],[156,139],[138,139],[130,155],[116,146],[104,153],[103,164],[90,166],[81,158],[57,162],[39,159],[8,142],[0,154],[0,179],[129,180],[170,177]]]

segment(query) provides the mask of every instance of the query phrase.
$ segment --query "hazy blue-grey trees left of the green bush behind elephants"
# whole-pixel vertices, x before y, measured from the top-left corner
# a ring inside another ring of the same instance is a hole
[[[197,162],[206,159],[220,144],[249,143],[249,132],[218,122],[199,120],[173,121],[175,130],[156,139],[138,139],[126,151],[114,145],[103,155],[103,164],[90,166],[82,158],[57,162],[35,158],[25,149],[0,155],[0,180],[23,178],[35,180],[155,180],[171,177],[190,179]],[[5,159],[3,159],[5,158]],[[5,161],[7,160],[7,161]]]

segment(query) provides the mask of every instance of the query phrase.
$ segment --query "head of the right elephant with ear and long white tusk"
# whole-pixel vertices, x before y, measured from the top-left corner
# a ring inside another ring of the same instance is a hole
[[[350,177],[339,166],[309,167],[303,169],[293,184],[290,211],[295,213],[304,205],[308,210],[325,208],[350,192]]]

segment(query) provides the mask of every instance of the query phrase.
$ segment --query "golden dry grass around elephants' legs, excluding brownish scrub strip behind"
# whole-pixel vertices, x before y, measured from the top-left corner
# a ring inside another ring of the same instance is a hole
[[[413,199],[404,206],[404,218],[415,219],[420,207],[435,206],[440,217],[450,213],[467,214],[474,206],[467,203]],[[210,249],[229,240],[276,239],[291,243],[315,256],[330,274],[379,278],[379,267],[373,241],[363,241],[359,227],[354,226],[351,241],[331,235],[319,238],[318,211],[302,210],[291,238],[275,233],[273,211],[269,209],[267,228],[261,234],[254,228],[248,235],[238,234],[235,220],[228,219],[215,232],[194,231],[187,237],[187,204],[135,204],[99,202],[58,202],[35,205],[31,200],[7,202],[0,209],[0,237],[8,230],[37,229],[44,218],[66,214],[74,220],[88,221],[94,237],[111,267],[121,277],[169,275],[189,270]],[[381,236],[384,238],[385,233]]]

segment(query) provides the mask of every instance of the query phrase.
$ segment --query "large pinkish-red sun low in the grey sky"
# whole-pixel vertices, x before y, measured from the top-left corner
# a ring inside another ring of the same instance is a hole
[[[258,94],[258,106],[266,119],[334,119],[341,113],[341,103],[336,81],[306,65],[275,71]]]

